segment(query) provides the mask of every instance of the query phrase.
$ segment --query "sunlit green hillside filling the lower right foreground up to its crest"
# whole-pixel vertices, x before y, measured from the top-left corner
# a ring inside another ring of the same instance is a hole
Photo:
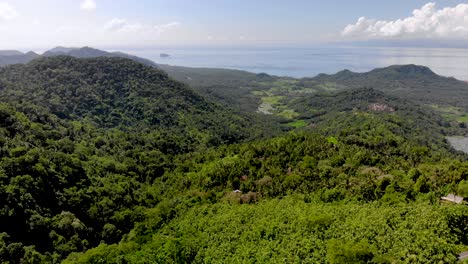
[[[364,104],[370,93],[324,99]],[[466,191],[468,163],[437,124],[414,127],[425,108],[407,106],[332,109],[301,132],[180,156],[157,180],[162,201],[128,236],[65,263],[454,263],[468,210],[439,197]]]

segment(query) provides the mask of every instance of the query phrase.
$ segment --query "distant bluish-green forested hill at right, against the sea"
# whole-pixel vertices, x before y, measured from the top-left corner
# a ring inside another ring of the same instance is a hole
[[[341,88],[368,86],[422,103],[468,108],[466,82],[439,76],[429,68],[418,65],[394,65],[366,73],[344,70],[334,75],[320,74],[305,81],[333,83]]]

